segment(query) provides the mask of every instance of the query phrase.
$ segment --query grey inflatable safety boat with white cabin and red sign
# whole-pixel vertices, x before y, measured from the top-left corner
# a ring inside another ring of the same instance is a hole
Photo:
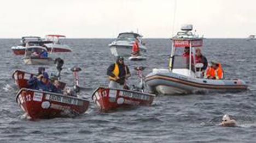
[[[203,38],[191,33],[192,25],[182,27],[173,37],[170,69],[153,69],[145,82],[151,92],[164,95],[190,94],[194,92],[235,92],[247,89],[241,79],[206,79],[203,72],[197,71],[202,65],[195,63],[195,48],[202,47]],[[181,49],[189,48],[187,57]],[[180,52],[180,53],[179,53]],[[195,65],[195,66],[194,66]]]

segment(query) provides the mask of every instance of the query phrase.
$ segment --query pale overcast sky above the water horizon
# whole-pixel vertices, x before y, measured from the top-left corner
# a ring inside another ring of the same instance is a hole
[[[247,38],[256,35],[255,5],[255,0],[1,0],[0,38],[115,38],[131,31],[171,38],[182,24],[193,24],[205,38]]]

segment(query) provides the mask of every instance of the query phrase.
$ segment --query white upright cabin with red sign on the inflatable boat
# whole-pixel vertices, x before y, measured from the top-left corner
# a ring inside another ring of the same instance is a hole
[[[192,25],[185,25],[181,29],[182,32],[178,32],[172,39],[169,68],[173,73],[202,78],[202,64],[195,63],[195,51],[202,48],[202,38],[191,32]]]

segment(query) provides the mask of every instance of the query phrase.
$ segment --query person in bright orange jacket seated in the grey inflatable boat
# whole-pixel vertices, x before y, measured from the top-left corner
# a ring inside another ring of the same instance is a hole
[[[206,70],[206,77],[208,79],[223,79],[223,70],[220,63],[213,60],[211,66]]]

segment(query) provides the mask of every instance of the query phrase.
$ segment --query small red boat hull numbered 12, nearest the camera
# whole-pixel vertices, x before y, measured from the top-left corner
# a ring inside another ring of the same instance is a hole
[[[26,88],[20,89],[16,102],[27,119],[72,117],[85,113],[89,107],[89,101],[84,98]]]

